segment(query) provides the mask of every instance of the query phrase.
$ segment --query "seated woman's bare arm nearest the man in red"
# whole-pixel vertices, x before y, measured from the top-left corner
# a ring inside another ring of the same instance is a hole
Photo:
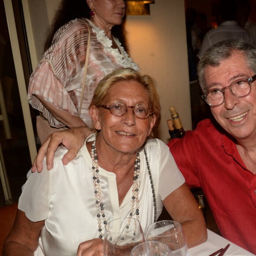
[[[166,196],[163,204],[173,220],[181,223],[188,248],[207,240],[203,213],[185,183]]]

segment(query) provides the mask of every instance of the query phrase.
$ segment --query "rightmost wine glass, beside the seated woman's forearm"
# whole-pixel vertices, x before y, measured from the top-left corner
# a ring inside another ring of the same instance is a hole
[[[173,256],[187,256],[188,247],[180,223],[162,220],[151,224],[147,228],[148,241],[160,241],[171,249]]]

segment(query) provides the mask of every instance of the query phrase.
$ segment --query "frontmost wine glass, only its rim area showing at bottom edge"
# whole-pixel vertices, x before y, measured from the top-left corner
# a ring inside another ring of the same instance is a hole
[[[159,241],[147,241],[133,247],[131,256],[173,256],[168,245]]]

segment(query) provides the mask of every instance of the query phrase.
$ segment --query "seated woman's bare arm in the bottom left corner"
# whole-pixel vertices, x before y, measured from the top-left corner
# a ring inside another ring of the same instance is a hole
[[[38,239],[45,221],[32,222],[21,210],[4,242],[3,256],[30,256],[38,247]]]

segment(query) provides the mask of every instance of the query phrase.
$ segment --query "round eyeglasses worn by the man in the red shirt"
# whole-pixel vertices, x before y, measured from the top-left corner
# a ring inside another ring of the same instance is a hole
[[[230,89],[230,92],[237,98],[246,97],[251,92],[252,82],[255,79],[256,75],[250,78],[238,79],[231,83],[230,86],[208,90],[206,94],[202,95],[202,98],[211,107],[217,107],[224,102],[226,89]]]

